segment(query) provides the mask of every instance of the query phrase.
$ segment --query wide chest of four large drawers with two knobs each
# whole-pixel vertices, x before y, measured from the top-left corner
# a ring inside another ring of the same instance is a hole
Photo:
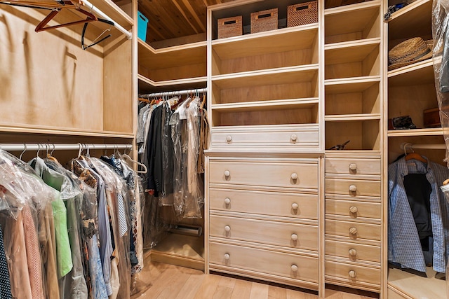
[[[208,158],[208,268],[319,289],[321,158]]]

